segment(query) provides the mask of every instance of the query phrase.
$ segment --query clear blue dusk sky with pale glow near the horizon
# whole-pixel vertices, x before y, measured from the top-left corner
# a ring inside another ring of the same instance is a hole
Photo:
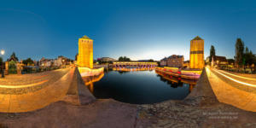
[[[131,60],[184,55],[190,40],[205,40],[217,55],[233,58],[236,38],[256,53],[256,1],[249,0],[0,0],[0,49],[31,57],[71,59],[78,39],[94,40],[94,59]]]

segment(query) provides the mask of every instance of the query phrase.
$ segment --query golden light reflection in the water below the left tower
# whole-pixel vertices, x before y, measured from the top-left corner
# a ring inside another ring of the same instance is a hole
[[[97,76],[88,76],[88,77],[83,77],[82,79],[84,80],[84,84],[88,87],[90,92],[93,92],[93,83],[100,81],[104,77],[104,73],[101,73],[100,75]]]

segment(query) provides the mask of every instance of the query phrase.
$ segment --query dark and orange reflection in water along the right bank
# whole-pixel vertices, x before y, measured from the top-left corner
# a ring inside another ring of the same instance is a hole
[[[163,82],[167,82],[167,84],[170,84],[172,88],[177,88],[177,87],[182,87],[183,83],[184,84],[189,84],[189,93],[195,88],[195,84],[197,82],[197,80],[192,80],[192,79],[181,79],[181,78],[177,78],[165,73],[160,73],[155,71],[155,73],[157,73],[158,77],[160,77],[160,80]]]

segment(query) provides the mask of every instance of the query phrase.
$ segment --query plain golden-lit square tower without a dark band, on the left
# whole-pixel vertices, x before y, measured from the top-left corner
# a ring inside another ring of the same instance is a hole
[[[79,67],[93,68],[93,40],[84,36],[79,38]]]

